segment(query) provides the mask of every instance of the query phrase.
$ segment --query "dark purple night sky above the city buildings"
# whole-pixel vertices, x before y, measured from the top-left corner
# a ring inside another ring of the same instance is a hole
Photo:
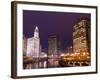
[[[72,45],[73,25],[81,17],[90,19],[90,14],[23,10],[23,35],[33,37],[38,26],[42,48],[48,48],[49,35],[59,36],[62,48],[66,48]]]

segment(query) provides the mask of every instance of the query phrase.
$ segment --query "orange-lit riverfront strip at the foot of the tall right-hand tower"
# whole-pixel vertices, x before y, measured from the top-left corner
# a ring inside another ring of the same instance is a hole
[[[90,58],[80,56],[63,56],[59,60],[59,65],[62,67],[89,66]]]

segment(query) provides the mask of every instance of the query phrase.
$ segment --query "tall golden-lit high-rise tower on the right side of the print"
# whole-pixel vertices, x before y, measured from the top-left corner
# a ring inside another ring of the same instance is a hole
[[[74,27],[73,52],[89,52],[90,50],[90,21],[82,18]]]

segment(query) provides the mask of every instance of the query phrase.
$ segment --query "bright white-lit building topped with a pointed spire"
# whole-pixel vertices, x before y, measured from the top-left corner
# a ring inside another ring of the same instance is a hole
[[[36,26],[34,36],[27,40],[27,56],[39,57],[40,53],[40,38],[39,29]]]

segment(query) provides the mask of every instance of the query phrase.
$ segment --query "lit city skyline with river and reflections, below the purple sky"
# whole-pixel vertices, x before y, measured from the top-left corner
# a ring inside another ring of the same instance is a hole
[[[90,56],[90,20],[81,18],[73,26],[73,45],[68,52],[60,50],[59,38],[56,35],[48,37],[48,51],[42,51],[39,29],[35,27],[34,36],[23,38],[23,68],[55,68],[91,65]],[[72,48],[73,47],[73,48]]]

